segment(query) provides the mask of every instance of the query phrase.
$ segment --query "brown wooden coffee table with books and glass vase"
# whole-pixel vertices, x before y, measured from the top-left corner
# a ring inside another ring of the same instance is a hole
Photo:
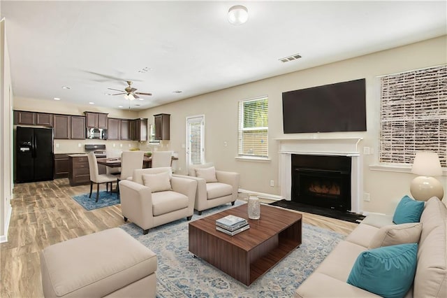
[[[216,230],[226,215],[246,218],[250,228],[229,236]],[[261,204],[261,219],[249,220],[247,204],[189,223],[189,251],[245,285],[250,285],[301,245],[302,215]]]

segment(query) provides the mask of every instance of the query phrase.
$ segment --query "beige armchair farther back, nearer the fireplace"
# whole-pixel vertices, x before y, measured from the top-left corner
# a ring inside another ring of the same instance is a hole
[[[227,203],[235,204],[237,190],[239,189],[239,173],[216,171],[214,164],[210,162],[207,164],[190,164],[188,176],[173,176],[186,177],[197,181],[194,209],[198,211],[198,215],[209,208]]]

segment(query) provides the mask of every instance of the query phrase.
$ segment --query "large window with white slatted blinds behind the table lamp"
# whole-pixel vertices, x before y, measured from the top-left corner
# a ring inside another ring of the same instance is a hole
[[[379,161],[412,164],[437,152],[447,166],[447,65],[383,76]]]

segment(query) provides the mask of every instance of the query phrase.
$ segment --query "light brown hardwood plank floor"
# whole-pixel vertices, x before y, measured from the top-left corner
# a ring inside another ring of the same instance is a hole
[[[54,243],[124,225],[120,205],[86,211],[71,196],[89,185],[68,179],[17,184],[8,242],[0,244],[0,297],[43,297],[39,253]],[[356,224],[303,213],[303,222],[349,234]],[[69,256],[67,256],[69,257]]]

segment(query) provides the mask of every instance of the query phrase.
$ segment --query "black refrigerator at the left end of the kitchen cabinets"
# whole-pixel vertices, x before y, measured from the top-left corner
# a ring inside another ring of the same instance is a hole
[[[15,182],[53,180],[53,129],[17,127]]]

